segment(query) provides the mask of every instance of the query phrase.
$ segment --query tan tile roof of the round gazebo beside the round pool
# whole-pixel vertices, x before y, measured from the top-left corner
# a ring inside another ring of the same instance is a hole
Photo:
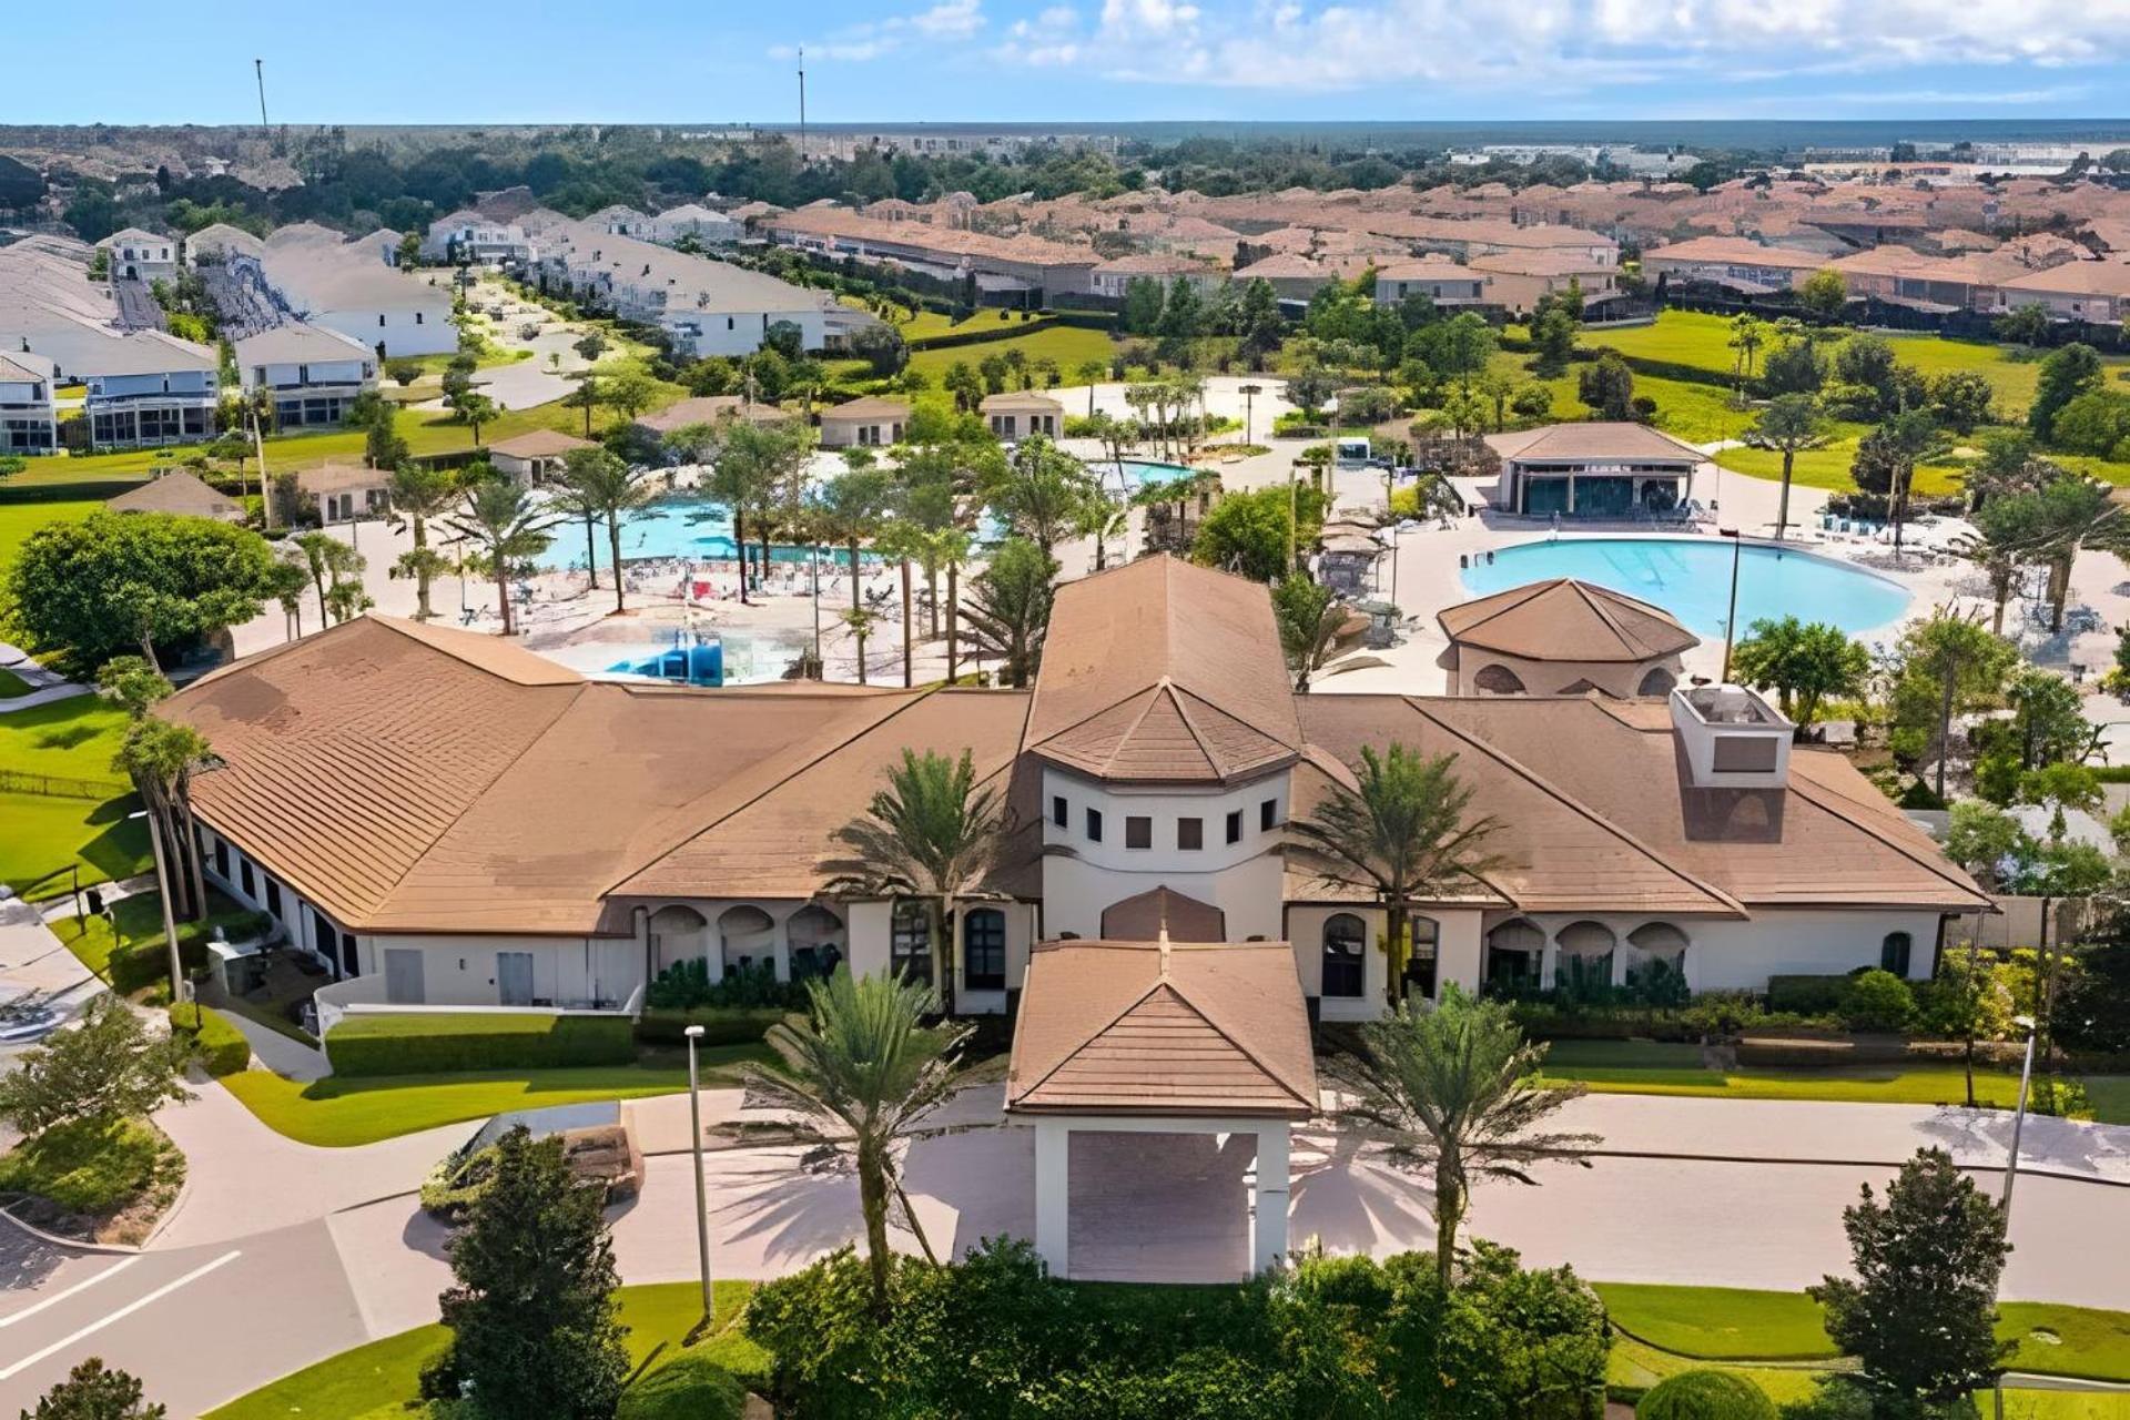
[[[1442,634],[1523,660],[1638,662],[1702,643],[1664,607],[1553,577],[1444,607]]]

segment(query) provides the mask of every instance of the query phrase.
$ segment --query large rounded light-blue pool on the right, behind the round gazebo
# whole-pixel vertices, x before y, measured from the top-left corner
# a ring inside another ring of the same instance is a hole
[[[1563,536],[1500,547],[1463,573],[1474,596],[1549,577],[1578,577],[1640,596],[1700,637],[1721,637],[1730,613],[1732,543],[1717,536]],[[1747,543],[1738,564],[1738,628],[1793,615],[1857,634],[1902,620],[1913,596],[1898,581],[1793,547]]]

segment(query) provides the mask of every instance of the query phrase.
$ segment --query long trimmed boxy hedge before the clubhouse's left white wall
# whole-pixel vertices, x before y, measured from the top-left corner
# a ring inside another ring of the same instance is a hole
[[[334,1075],[445,1075],[628,1064],[624,1016],[349,1016],[326,1037]]]

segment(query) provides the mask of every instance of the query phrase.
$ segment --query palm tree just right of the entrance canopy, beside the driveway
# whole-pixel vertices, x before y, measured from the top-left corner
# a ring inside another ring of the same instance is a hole
[[[1502,1001],[1474,1001],[1457,986],[1431,1011],[1397,1007],[1359,1026],[1359,1050],[1327,1067],[1350,1099],[1340,1124],[1389,1147],[1393,1165],[1425,1169],[1436,1188],[1436,1277],[1457,1279],[1457,1228],[1472,1186],[1538,1184],[1531,1165],[1553,1158],[1589,1167],[1595,1135],[1536,1133],[1585,1086],[1534,1081],[1544,1045],[1531,1045]]]

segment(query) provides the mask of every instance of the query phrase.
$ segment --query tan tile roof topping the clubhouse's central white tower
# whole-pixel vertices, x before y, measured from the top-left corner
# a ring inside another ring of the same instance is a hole
[[[1059,588],[1027,747],[1125,781],[1216,781],[1301,747],[1265,588],[1169,556]]]

